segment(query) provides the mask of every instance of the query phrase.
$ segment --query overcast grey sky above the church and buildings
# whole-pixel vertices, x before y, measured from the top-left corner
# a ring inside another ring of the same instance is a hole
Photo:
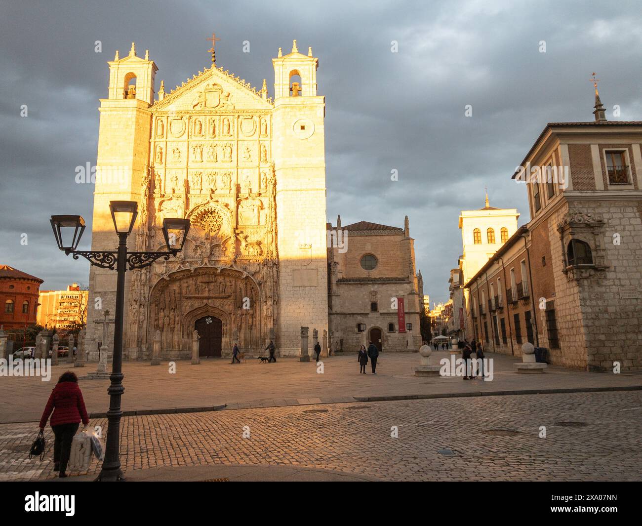
[[[42,289],[88,281],[89,263],[56,249],[48,220],[83,215],[89,248],[94,188],[74,182],[75,168],[96,162],[106,62],[132,41],[140,56],[150,50],[158,90],[160,80],[173,88],[209,65],[205,39],[216,31],[217,65],[258,88],[268,79],[270,96],[278,48],[289,53],[293,39],[303,53],[312,46],[326,105],[328,219],[403,227],[408,215],[431,302],[448,297],[462,253],[459,213],[483,206],[485,186],[491,206],[517,207],[520,224],[528,221],[525,188],[510,176],[547,122],[593,119],[591,72],[607,118],[617,104],[619,119],[642,119],[637,1],[0,6],[0,264],[42,277]]]

